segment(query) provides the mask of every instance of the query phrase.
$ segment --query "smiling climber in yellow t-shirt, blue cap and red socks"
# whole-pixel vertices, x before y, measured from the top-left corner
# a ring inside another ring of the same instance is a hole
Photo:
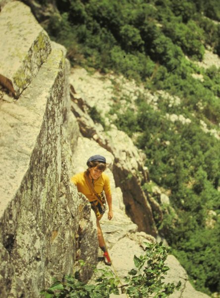
[[[78,192],[83,193],[87,197],[91,208],[95,212],[99,246],[104,252],[105,263],[111,265],[110,256],[99,223],[106,211],[105,196],[109,206],[108,219],[111,220],[113,217],[110,180],[103,173],[107,167],[106,158],[102,155],[93,155],[87,160],[87,166],[87,170],[74,175],[71,178],[71,182],[76,185]]]

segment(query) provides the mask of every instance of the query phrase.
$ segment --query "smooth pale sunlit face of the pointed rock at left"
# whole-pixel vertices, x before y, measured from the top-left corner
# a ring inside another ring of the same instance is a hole
[[[62,97],[63,90],[61,88],[63,88],[64,76],[60,77],[59,75],[60,71],[63,72],[63,65],[61,65],[62,58],[63,53],[59,49],[54,49],[47,63],[41,68],[39,75],[30,87],[25,90],[19,100],[13,103],[3,102],[0,106],[0,126],[2,133],[0,138],[0,162],[2,164],[0,174],[3,177],[0,181],[0,197],[4,198],[0,202],[0,216],[4,212],[4,207],[15,196],[16,191],[21,185],[24,173],[28,169],[31,153],[34,150],[38,134],[41,131],[43,117],[45,117],[44,125],[48,129],[48,148],[53,146],[52,142],[50,142],[52,139],[60,138],[57,128],[53,132],[52,123],[49,124],[47,122],[53,119],[54,126],[58,126],[60,130],[62,115],[60,114],[59,118],[57,117],[55,119],[55,117],[50,118],[50,115],[44,116],[44,113],[47,101],[49,111],[51,110],[50,105],[52,103],[50,103],[50,97],[53,94],[52,92],[54,92],[54,97],[58,96],[58,93]],[[46,81],[44,79],[45,76],[47,77]],[[60,84],[60,88],[53,90],[51,86],[56,80],[59,80],[57,83]],[[61,97],[59,100],[61,100]],[[37,101],[36,98],[38,98]],[[59,108],[60,104],[58,99],[56,100],[55,109]],[[54,136],[52,135],[53,133],[55,133]]]

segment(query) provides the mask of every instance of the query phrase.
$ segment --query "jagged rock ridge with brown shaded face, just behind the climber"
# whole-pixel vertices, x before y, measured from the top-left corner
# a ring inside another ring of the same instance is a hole
[[[76,77],[78,75],[78,78]],[[99,108],[101,115],[105,113],[105,108],[101,109],[101,99],[98,100],[98,91],[96,101],[94,100],[95,86],[99,90],[99,83],[95,85],[98,78],[95,78],[93,91],[88,91],[89,75],[85,70],[76,69],[70,75],[72,105],[71,109],[78,120],[80,132],[84,137],[92,138],[101,147],[110,151],[114,156],[112,172],[116,186],[123,192],[123,200],[127,215],[134,223],[138,225],[140,231],[146,231],[154,236],[158,234],[153,212],[156,211],[159,218],[162,219],[162,211],[153,198],[143,190],[142,186],[148,181],[148,170],[144,166],[145,155],[139,151],[132,140],[122,131],[110,125],[107,132],[102,125],[94,123],[90,117],[90,109],[93,106]],[[92,78],[94,80],[94,78]],[[91,83],[90,83],[91,84]],[[104,83],[103,83],[104,84]],[[101,90],[100,90],[101,91]],[[101,91],[103,105],[110,106],[111,93],[110,81],[107,79],[107,87]],[[107,102],[105,99],[107,98]]]

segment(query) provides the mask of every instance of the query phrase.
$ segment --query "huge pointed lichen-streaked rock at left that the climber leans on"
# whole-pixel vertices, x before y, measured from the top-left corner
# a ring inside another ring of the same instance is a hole
[[[11,4],[0,12],[1,17],[8,11],[4,16],[8,23],[12,22],[12,12],[17,13],[13,7],[22,10],[23,6],[24,13],[30,13],[20,2]],[[31,15],[28,19],[33,20]],[[29,25],[32,27],[32,23]],[[52,277],[71,274],[78,259],[90,264],[97,262],[95,216],[91,216],[85,197],[79,196],[69,183],[74,148],[71,142],[79,136],[67,104],[69,65],[65,49],[48,42],[50,55],[19,98],[11,98],[6,89],[0,91],[2,298],[39,297]],[[41,51],[39,43],[36,40],[36,48]],[[30,60],[35,55],[28,49],[26,54]],[[10,57],[5,59],[10,72]],[[28,66],[23,67],[25,73]],[[88,279],[91,272],[86,270],[82,275]]]

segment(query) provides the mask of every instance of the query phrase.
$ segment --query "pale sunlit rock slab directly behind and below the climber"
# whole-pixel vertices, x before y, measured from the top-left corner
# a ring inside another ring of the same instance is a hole
[[[107,174],[110,177],[110,184],[112,190],[112,207],[113,219],[108,220],[105,214],[100,221],[102,231],[106,244],[108,246],[113,267],[112,272],[117,274],[121,279],[128,275],[128,272],[135,268],[133,257],[134,255],[140,256],[144,254],[144,242],[155,243],[156,239],[152,235],[145,232],[138,232],[138,226],[130,220],[125,214],[125,207],[123,204],[123,195],[119,187],[115,186],[114,176],[112,173],[112,165],[114,164],[114,156],[110,151],[101,148],[96,141],[88,138],[79,137],[76,148],[72,155],[72,160],[77,160],[77,164],[73,167],[73,174],[83,171],[86,166],[88,155],[95,153],[106,156],[108,162]],[[101,250],[99,256],[102,256]],[[181,288],[175,291],[170,298],[208,298],[207,295],[195,291],[188,281],[187,274],[182,268],[178,260],[168,255],[166,265],[170,268],[165,276],[166,283],[174,283],[181,281]],[[98,269],[104,269],[104,262],[99,262]],[[127,298],[127,295],[120,294],[110,295],[110,298]]]

